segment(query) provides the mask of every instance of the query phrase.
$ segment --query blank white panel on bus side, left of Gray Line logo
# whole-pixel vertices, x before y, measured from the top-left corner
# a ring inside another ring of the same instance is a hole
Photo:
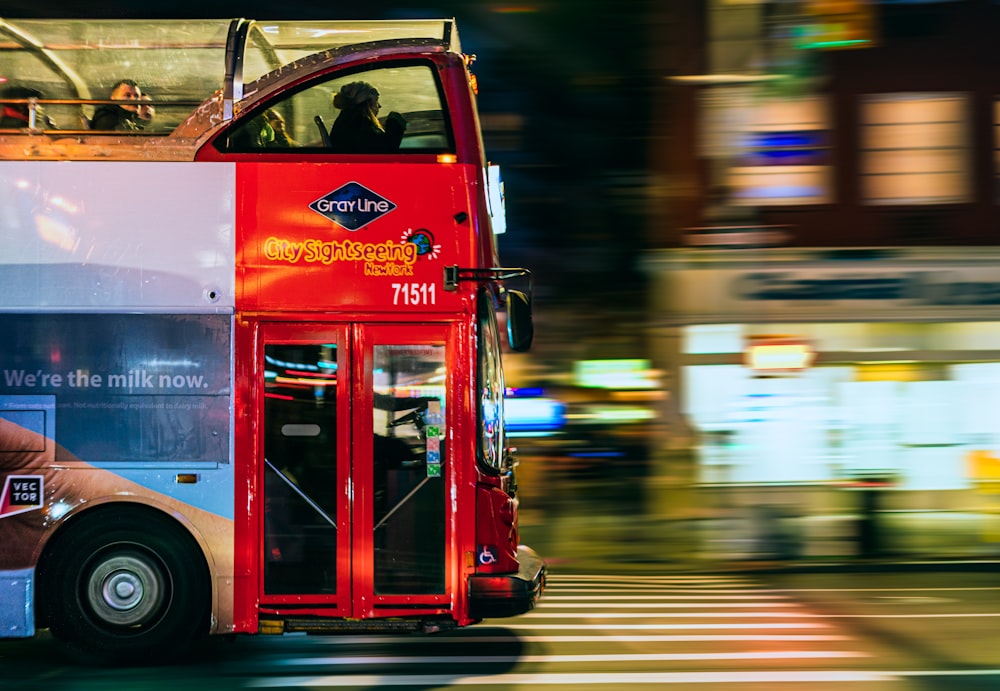
[[[230,312],[235,166],[0,161],[0,310]]]

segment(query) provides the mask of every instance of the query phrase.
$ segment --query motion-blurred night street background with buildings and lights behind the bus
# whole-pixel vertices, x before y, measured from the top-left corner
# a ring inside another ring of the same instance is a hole
[[[456,17],[535,276],[508,416],[555,565],[1000,554],[1000,1],[0,16]]]

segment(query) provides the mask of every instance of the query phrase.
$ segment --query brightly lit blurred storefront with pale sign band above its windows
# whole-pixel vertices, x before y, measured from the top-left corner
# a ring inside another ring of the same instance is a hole
[[[663,256],[673,261],[656,273],[656,364],[697,432],[700,483],[878,474],[900,490],[967,490],[970,456],[1000,454],[994,254]],[[755,369],[745,356],[761,342],[808,344],[815,357]]]

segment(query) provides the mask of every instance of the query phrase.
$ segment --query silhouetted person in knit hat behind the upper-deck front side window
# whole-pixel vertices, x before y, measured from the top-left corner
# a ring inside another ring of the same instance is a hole
[[[330,128],[330,146],[337,153],[391,153],[399,149],[406,130],[406,120],[399,113],[389,113],[383,126],[378,119],[381,105],[378,89],[367,82],[351,82],[333,97],[333,107],[340,115]]]

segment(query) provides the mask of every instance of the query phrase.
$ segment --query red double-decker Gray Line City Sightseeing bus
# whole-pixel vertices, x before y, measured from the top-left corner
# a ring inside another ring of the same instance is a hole
[[[129,663],[536,604],[470,61],[453,20],[0,20],[0,636]],[[398,149],[329,145],[354,82]]]

